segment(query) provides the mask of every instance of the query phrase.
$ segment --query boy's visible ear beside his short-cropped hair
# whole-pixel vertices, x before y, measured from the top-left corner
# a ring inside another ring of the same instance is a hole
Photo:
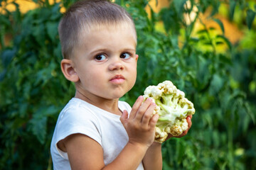
[[[73,66],[72,60],[63,59],[60,62],[61,71],[63,72],[66,79],[69,81],[77,82],[79,77]]]

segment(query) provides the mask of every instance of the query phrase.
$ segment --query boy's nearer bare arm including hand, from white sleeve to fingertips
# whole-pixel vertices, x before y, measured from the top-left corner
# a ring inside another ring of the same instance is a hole
[[[129,118],[127,111],[122,114],[120,120],[127,130],[129,141],[110,164],[104,164],[100,144],[86,135],[74,134],[60,141],[58,146],[68,152],[71,169],[137,169],[146,152],[150,152],[149,147],[154,150],[154,127],[159,118],[158,115],[151,118],[155,104],[150,99],[142,103],[143,100],[142,96],[137,99]]]

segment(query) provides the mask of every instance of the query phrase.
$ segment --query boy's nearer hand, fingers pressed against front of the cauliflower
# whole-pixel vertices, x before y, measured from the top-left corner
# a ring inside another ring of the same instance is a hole
[[[150,98],[143,101],[143,96],[139,96],[132,106],[129,118],[127,111],[124,111],[120,120],[127,131],[130,143],[149,147],[154,142],[154,128],[159,115],[151,116],[156,104]]]

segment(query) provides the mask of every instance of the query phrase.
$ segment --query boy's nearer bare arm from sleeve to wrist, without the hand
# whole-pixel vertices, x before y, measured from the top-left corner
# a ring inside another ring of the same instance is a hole
[[[65,139],[71,169],[137,169],[147,147],[127,143],[119,156],[107,166],[103,160],[100,144],[82,134],[70,135]],[[125,167],[125,168],[124,168]]]

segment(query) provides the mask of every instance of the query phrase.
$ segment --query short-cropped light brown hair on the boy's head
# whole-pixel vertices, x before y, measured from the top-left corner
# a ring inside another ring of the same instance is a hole
[[[121,6],[107,0],[78,1],[68,8],[58,26],[63,58],[70,59],[84,31],[127,26],[137,38],[134,21]]]

